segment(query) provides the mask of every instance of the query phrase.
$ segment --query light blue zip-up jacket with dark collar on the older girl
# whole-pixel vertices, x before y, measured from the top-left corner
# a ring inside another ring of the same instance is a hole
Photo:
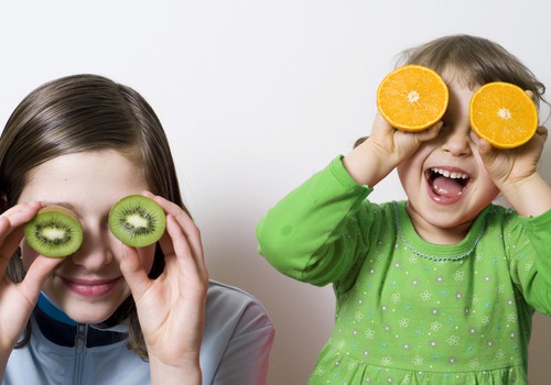
[[[76,324],[44,298],[31,322],[31,341],[12,351],[3,385],[150,384],[149,364],[127,348],[126,326]],[[253,297],[210,282],[201,348],[203,384],[264,384],[273,334]]]

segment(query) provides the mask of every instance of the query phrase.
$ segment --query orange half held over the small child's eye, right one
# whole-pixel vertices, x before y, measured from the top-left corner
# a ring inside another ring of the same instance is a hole
[[[538,129],[538,109],[518,86],[494,81],[471,98],[471,128],[497,148],[512,148],[528,142]]]

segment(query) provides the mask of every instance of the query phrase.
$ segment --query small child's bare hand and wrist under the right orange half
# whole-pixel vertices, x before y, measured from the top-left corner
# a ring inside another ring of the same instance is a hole
[[[525,217],[536,217],[551,209],[551,188],[537,170],[548,130],[538,129],[525,145],[496,150],[480,140],[479,152],[486,169],[507,201]]]

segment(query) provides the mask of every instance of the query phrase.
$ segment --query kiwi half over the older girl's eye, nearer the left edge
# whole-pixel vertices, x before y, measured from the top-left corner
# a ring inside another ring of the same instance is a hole
[[[75,253],[83,243],[83,227],[76,215],[62,206],[36,212],[24,229],[26,243],[44,256],[60,258]]]

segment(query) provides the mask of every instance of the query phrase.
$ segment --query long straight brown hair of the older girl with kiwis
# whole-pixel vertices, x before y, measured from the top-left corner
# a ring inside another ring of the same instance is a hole
[[[29,173],[57,156],[85,151],[115,150],[142,165],[153,194],[184,206],[169,141],[159,118],[136,90],[97,75],[74,75],[50,81],[26,96],[15,108],[0,136],[1,212],[14,206]],[[137,158],[138,157],[138,158]],[[150,277],[164,268],[156,246]],[[21,282],[18,255],[8,274]],[[129,346],[147,358],[136,305],[130,296],[109,322],[128,320]],[[19,348],[30,339],[30,322]]]

